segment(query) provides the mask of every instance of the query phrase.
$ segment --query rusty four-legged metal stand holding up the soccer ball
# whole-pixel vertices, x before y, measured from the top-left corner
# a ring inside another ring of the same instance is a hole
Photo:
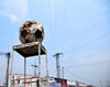
[[[11,59],[11,73],[10,73],[10,87],[12,87],[12,73],[13,73],[13,55],[14,51],[21,54],[24,57],[24,87],[26,87],[26,58],[31,56],[38,56],[38,87],[42,86],[41,83],[41,55],[45,55],[46,58],[46,86],[48,85],[48,62],[47,62],[47,52],[41,42],[32,42],[26,44],[19,44],[12,47],[12,59]],[[14,87],[14,86],[13,86]]]

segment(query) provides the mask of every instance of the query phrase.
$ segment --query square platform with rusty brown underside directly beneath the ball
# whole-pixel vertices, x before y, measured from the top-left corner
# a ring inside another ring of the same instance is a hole
[[[26,44],[14,45],[13,50],[21,54],[23,57],[37,56],[38,55],[38,42],[32,42]],[[46,54],[46,50],[41,45],[41,55]]]

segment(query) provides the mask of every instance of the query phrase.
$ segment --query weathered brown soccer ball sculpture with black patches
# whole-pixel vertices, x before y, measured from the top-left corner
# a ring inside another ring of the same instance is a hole
[[[35,21],[26,21],[20,28],[20,41],[22,44],[31,42],[42,42],[43,39],[43,26]]]

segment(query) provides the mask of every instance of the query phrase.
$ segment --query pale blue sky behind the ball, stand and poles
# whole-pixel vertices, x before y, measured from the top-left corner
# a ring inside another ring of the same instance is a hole
[[[12,46],[21,43],[20,25],[28,20],[37,21],[45,32],[43,45],[48,52],[50,76],[56,76],[53,55],[62,52],[65,78],[97,87],[102,80],[105,87],[110,81],[109,15],[109,0],[0,0],[0,51],[12,52]],[[28,58],[28,74],[33,74],[31,64],[34,58]],[[14,65],[14,73],[23,74],[23,58],[18,53]],[[42,70],[44,76],[44,56]]]

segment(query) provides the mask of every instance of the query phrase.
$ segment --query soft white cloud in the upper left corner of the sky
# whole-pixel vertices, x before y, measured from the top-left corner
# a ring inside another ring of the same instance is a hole
[[[7,0],[2,3],[2,8],[0,14],[9,18],[12,22],[23,20],[29,13],[26,0]]]

